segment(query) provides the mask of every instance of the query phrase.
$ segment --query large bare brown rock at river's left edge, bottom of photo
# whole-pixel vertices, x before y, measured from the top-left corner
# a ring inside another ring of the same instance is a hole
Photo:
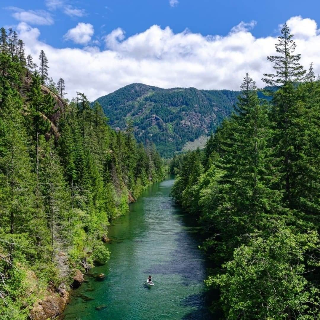
[[[61,284],[57,291],[48,290],[42,300],[36,300],[29,315],[30,319],[54,319],[63,312],[69,300],[69,292],[64,284]]]

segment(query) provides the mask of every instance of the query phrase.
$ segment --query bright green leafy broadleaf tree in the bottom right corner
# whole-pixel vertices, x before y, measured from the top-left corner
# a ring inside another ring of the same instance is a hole
[[[320,290],[305,275],[319,267],[317,233],[294,235],[280,227],[266,239],[253,236],[207,285],[221,287],[227,319],[316,319]]]

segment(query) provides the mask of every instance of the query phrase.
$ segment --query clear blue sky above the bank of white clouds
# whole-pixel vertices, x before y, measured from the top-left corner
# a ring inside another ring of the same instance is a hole
[[[61,5],[57,4],[61,2]],[[95,39],[115,28],[125,30],[126,36],[143,32],[157,24],[169,26],[174,33],[188,28],[202,35],[226,35],[240,21],[257,21],[252,34],[256,37],[275,35],[277,26],[292,16],[301,15],[314,20],[320,17],[319,1],[258,1],[258,0],[106,0],[106,1],[4,1],[3,8],[16,7],[23,10],[45,10],[52,16],[51,25],[41,26],[41,39],[55,47],[70,45],[63,36],[78,22],[90,23]],[[77,9],[77,15],[63,13],[64,6]],[[1,24],[17,24],[12,17],[14,10],[3,11]],[[38,27],[39,28],[39,27]],[[77,46],[77,44],[73,44]]]

